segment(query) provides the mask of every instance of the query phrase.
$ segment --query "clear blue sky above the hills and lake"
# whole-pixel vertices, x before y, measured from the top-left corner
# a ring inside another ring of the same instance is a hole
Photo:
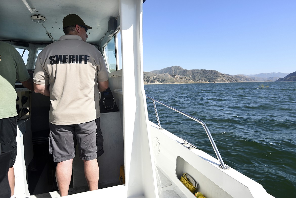
[[[147,0],[144,71],[178,65],[230,75],[296,71],[295,0]]]

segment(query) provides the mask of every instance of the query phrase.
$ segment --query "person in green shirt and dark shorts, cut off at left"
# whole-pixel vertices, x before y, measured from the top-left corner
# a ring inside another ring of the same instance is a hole
[[[12,151],[9,161],[8,181],[14,197],[15,174],[13,165],[17,155],[17,110],[15,80],[34,90],[26,65],[14,46],[0,41],[0,143],[2,152]]]

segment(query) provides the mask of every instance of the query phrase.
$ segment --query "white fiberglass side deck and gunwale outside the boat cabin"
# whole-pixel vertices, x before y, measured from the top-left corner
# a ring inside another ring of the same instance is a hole
[[[272,197],[259,183],[233,168],[218,168],[219,161],[216,158],[199,149],[188,149],[188,145],[181,145],[184,142],[181,138],[150,124],[160,197],[165,197],[165,193],[172,193],[169,191],[171,189],[179,197],[194,197],[196,192],[201,192],[207,198]],[[189,174],[198,183],[194,193],[180,181],[183,173]]]

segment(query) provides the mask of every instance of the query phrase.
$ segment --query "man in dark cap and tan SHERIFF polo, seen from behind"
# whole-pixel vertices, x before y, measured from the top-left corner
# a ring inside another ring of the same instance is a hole
[[[68,194],[75,146],[89,190],[98,189],[96,158],[104,151],[100,129],[99,91],[108,88],[107,67],[100,51],[86,43],[91,29],[75,14],[63,19],[65,36],[38,55],[34,91],[50,97],[49,150],[57,163],[56,179],[61,196]]]

